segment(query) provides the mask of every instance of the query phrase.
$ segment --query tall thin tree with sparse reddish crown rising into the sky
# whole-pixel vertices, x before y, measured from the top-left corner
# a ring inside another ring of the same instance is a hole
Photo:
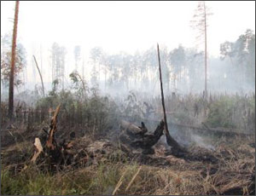
[[[205,45],[205,95],[207,97],[207,18],[209,13],[209,9],[206,6],[204,1],[201,1],[197,5],[197,9],[195,9],[195,14],[193,16],[193,20],[191,20],[191,26],[198,30],[199,35],[198,39],[203,37],[204,45]]]

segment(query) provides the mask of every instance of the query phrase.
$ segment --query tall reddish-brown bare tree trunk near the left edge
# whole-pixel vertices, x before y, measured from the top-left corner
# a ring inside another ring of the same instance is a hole
[[[11,70],[9,76],[9,118],[13,118],[14,112],[14,80],[15,80],[15,56],[16,56],[16,39],[17,39],[17,26],[18,26],[18,14],[19,14],[19,1],[15,3],[15,24],[13,32],[13,44],[12,44],[12,59]]]

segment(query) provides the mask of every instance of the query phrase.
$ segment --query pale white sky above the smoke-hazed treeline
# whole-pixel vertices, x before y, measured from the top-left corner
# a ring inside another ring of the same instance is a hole
[[[125,51],[134,54],[156,43],[174,49],[198,47],[190,20],[196,1],[181,2],[20,2],[18,37],[29,59],[52,43],[67,48],[67,63],[73,61],[73,47],[81,45],[84,58],[91,48],[100,46],[108,54]],[[255,2],[206,2],[208,18],[208,55],[218,56],[219,45],[234,42],[248,28],[255,32]],[[1,1],[1,36],[12,32],[15,2]],[[45,56],[45,63],[49,56]],[[70,68],[72,69],[72,68]]]

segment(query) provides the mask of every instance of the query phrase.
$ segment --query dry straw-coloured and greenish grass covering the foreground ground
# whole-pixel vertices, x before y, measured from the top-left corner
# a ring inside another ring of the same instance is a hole
[[[169,164],[154,166],[140,164],[137,160],[119,161],[111,156],[94,154],[91,164],[80,164],[56,173],[38,170],[28,165],[26,170],[14,171],[3,165],[1,174],[2,194],[253,194],[255,193],[255,149],[253,141],[236,138],[233,142],[219,141],[212,156],[217,164],[189,161],[172,155],[166,156]],[[81,138],[84,148],[94,146],[94,141]],[[96,141],[99,143],[100,141]],[[103,146],[102,146],[103,147]],[[118,149],[117,149],[118,150]],[[193,150],[191,148],[191,150]],[[194,149],[195,150],[195,149]],[[11,146],[3,152],[3,159],[10,154],[30,152],[27,143]],[[193,156],[205,149],[196,148]],[[98,152],[98,150],[96,150]],[[113,152],[112,152],[113,153]],[[210,152],[208,152],[210,153]],[[154,157],[160,156],[160,150]],[[161,159],[164,156],[160,156]],[[159,158],[160,159],[160,158]],[[3,161],[4,163],[4,161]],[[24,167],[24,164],[23,164]]]

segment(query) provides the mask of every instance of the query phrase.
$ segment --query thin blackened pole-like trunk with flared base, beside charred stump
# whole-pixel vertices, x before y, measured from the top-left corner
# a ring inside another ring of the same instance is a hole
[[[157,52],[158,52],[158,62],[159,62],[159,72],[160,72],[160,89],[161,89],[161,98],[162,98],[162,106],[164,111],[164,124],[165,124],[165,134],[166,134],[166,141],[167,144],[173,147],[176,150],[180,150],[181,147],[178,145],[177,141],[175,141],[169,133],[167,120],[166,120],[166,107],[165,107],[165,98],[164,98],[164,91],[163,91],[163,84],[162,84],[162,74],[161,74],[161,66],[160,66],[160,52],[159,52],[159,45],[157,43]]]

